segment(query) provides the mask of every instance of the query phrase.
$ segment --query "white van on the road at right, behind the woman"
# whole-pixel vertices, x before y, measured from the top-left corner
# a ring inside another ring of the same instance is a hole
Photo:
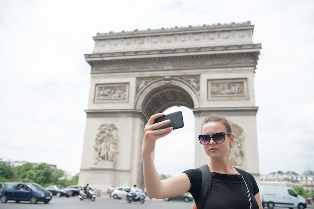
[[[263,207],[267,206],[269,209],[274,207],[304,209],[307,206],[306,200],[291,187],[260,185],[259,193]]]

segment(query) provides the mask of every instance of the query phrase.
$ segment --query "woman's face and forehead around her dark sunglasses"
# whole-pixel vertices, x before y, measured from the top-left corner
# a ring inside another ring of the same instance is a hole
[[[207,134],[212,136],[214,133],[227,132],[227,129],[223,123],[220,122],[208,122],[202,126],[202,134]],[[225,135],[225,141],[218,144],[212,138],[209,144],[203,145],[204,150],[208,156],[211,158],[223,158],[227,157],[229,159],[229,149],[234,140],[234,136]]]

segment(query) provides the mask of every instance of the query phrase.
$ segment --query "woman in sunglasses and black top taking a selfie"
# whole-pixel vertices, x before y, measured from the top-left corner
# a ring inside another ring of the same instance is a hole
[[[202,179],[202,173],[199,169],[186,170],[176,177],[162,181],[159,179],[153,161],[153,150],[155,149],[156,140],[166,136],[173,130],[172,127],[158,129],[170,123],[170,120],[153,124],[156,118],[163,115],[164,113],[152,115],[144,128],[142,155],[147,193],[150,198],[163,199],[190,192],[197,202]],[[211,115],[205,118],[201,127],[201,135],[198,137],[201,144],[203,144],[206,154],[210,157],[207,165],[212,174],[211,192],[205,208],[262,209],[263,206],[256,181],[253,180],[254,191],[250,191],[249,195],[242,176],[231,166],[229,151],[234,142],[234,135],[232,134],[230,123],[225,117]]]

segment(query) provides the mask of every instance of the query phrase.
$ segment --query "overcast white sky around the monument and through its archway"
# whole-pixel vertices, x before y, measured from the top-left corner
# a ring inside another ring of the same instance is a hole
[[[84,54],[92,53],[97,32],[250,21],[253,42],[262,44],[255,73],[260,172],[314,170],[314,1],[0,0],[0,5],[3,160],[79,172],[91,69]],[[184,111],[184,117],[193,117]],[[185,139],[197,139],[193,126],[185,119],[187,129],[160,139],[159,173],[194,168],[194,142]],[[182,139],[180,132],[189,134]],[[184,143],[178,144],[179,137]]]

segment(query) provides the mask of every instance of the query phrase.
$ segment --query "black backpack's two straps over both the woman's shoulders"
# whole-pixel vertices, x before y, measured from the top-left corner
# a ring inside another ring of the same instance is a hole
[[[201,185],[201,191],[200,191],[200,197],[197,204],[194,204],[194,208],[197,209],[204,209],[207,197],[209,195],[209,192],[211,190],[212,186],[212,175],[209,170],[208,165],[202,165],[199,167],[199,169],[202,171],[202,185]],[[250,178],[249,174],[245,172],[244,170],[241,170],[239,168],[235,168],[245,179],[247,186],[249,187],[250,191],[253,191],[253,183],[252,179]],[[196,206],[197,205],[197,206]]]

